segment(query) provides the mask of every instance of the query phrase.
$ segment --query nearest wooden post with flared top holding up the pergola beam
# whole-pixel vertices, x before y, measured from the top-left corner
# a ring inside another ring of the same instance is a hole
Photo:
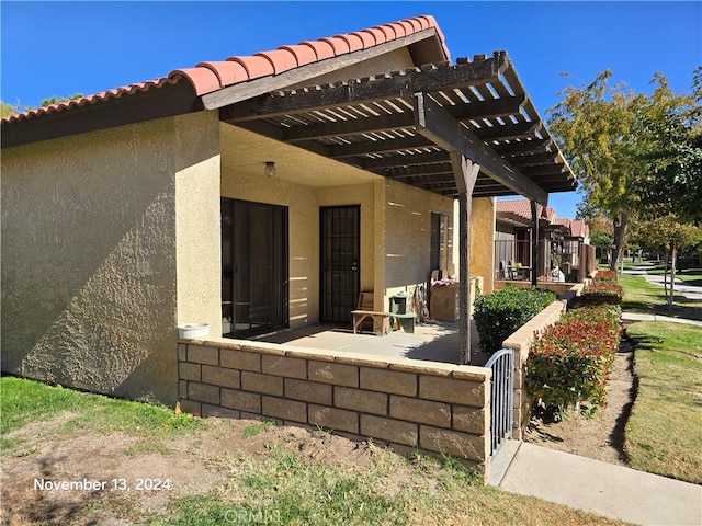
[[[451,152],[453,175],[458,188],[458,364],[471,363],[471,210],[473,188],[480,165],[461,153]]]

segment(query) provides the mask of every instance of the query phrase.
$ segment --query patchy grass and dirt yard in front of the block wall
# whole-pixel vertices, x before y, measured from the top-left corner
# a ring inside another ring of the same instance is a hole
[[[18,524],[50,525],[623,524],[483,487],[482,477],[450,457],[406,458],[372,442],[271,423],[212,419],[205,425],[167,408],[11,377],[0,388],[9,446],[3,477],[14,478],[1,489],[0,524],[9,524],[7,514]],[[59,433],[47,431],[52,422]],[[14,443],[18,434],[23,445]],[[160,446],[122,449],[134,437]],[[36,473],[60,481],[129,470],[181,479],[168,492],[32,489]]]

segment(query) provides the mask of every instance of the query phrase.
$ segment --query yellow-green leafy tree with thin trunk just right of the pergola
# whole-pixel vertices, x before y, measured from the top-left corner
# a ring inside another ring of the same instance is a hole
[[[636,211],[637,180],[646,170],[637,141],[637,116],[647,98],[611,87],[607,70],[588,85],[568,87],[548,110],[548,121],[585,192],[585,207],[612,220],[616,268],[630,218]]]

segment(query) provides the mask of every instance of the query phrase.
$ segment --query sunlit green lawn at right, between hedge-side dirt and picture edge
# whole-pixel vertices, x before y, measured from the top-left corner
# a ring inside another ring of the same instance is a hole
[[[625,430],[633,468],[702,484],[702,328],[638,322],[638,393]]]

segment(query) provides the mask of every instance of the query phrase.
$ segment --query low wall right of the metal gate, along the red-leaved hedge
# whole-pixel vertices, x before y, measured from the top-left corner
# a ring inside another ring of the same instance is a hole
[[[514,405],[512,438],[521,441],[531,416],[531,400],[524,389],[525,365],[535,334],[543,334],[566,311],[566,300],[556,300],[519,328],[502,342],[503,348],[514,350]]]

